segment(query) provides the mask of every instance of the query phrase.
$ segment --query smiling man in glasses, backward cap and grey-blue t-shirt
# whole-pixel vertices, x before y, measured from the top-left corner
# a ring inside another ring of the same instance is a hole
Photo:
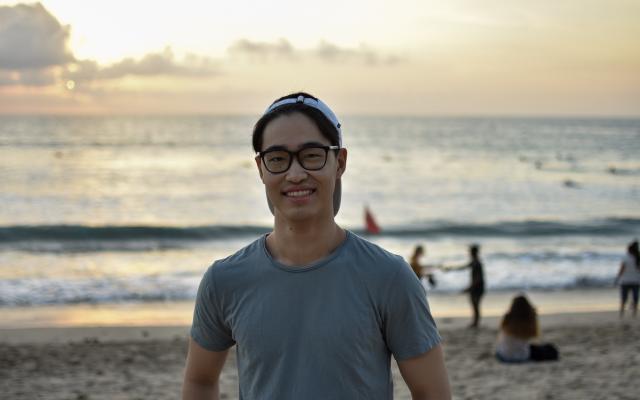
[[[424,288],[335,222],[347,165],[335,114],[307,93],[282,97],[253,148],[273,231],[202,278],[183,399],[218,398],[234,345],[240,398],[389,400],[393,356],[413,399],[450,399]]]

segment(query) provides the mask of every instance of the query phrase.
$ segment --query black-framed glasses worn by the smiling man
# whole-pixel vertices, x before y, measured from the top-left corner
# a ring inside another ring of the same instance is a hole
[[[293,163],[293,157],[298,159],[302,168],[308,171],[318,171],[327,163],[329,150],[340,150],[340,146],[307,146],[298,151],[286,149],[265,150],[258,153],[262,164],[272,174],[286,172]]]

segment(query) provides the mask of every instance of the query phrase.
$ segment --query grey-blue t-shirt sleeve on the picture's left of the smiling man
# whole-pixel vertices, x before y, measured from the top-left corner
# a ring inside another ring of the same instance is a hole
[[[231,329],[220,311],[215,290],[214,266],[209,267],[200,281],[193,311],[191,338],[210,351],[223,351],[235,344]]]

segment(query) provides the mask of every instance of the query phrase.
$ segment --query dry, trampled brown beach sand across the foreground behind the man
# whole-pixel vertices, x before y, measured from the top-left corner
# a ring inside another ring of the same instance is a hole
[[[637,399],[637,320],[590,313],[541,317],[558,362],[505,365],[493,357],[497,319],[478,331],[466,319],[440,321],[454,399]],[[0,331],[0,393],[6,399],[176,399],[187,328]],[[116,332],[114,334],[114,332]],[[65,339],[66,338],[66,339]],[[410,399],[395,362],[395,398]],[[236,399],[231,352],[221,398]]]

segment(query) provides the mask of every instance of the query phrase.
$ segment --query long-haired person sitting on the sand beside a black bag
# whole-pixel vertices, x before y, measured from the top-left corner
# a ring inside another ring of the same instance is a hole
[[[496,358],[502,362],[558,359],[558,349],[550,343],[532,344],[540,334],[538,314],[525,296],[516,296],[502,317],[496,343]]]

